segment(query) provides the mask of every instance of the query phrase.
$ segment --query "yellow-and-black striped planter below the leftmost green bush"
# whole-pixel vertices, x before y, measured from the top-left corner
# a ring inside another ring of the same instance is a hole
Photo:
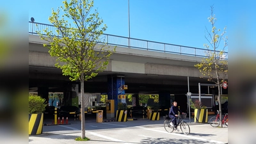
[[[29,135],[42,134],[44,113],[29,114],[28,119],[29,119],[28,134]]]

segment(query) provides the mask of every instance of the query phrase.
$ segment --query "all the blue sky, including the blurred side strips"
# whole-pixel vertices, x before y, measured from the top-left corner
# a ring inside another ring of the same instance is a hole
[[[51,9],[56,10],[63,0],[44,1],[2,1],[0,16],[7,15],[9,22],[4,29],[19,29],[20,20],[28,24],[31,17],[35,22],[50,24],[48,21]],[[230,42],[234,40],[235,52],[237,45],[256,51],[256,12],[254,1],[223,1],[223,0],[129,0],[131,37],[152,40],[168,44],[186,45],[204,48],[205,26],[211,29],[207,18],[211,14],[210,6],[214,4],[214,14],[218,21],[216,27],[227,26]],[[95,0],[95,8],[107,24],[107,34],[128,36],[128,0]],[[2,18],[2,17],[1,17]],[[23,23],[22,23],[23,24]],[[14,27],[15,26],[15,27]],[[3,32],[3,31],[2,31]],[[239,42],[238,44],[235,44]],[[249,54],[252,52],[249,52]]]

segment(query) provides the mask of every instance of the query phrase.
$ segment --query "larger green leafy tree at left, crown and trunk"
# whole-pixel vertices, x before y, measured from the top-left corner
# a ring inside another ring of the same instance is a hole
[[[60,8],[64,12],[61,16]],[[56,57],[55,66],[61,68],[64,76],[70,76],[71,81],[80,81],[81,113],[84,113],[84,81],[106,69],[115,47],[111,49],[106,44],[99,44],[105,42],[102,34],[107,26],[102,25],[97,10],[91,12],[93,0],[70,0],[69,3],[66,0],[60,8],[52,9],[49,17],[56,35],[48,29],[44,29],[46,37],[38,33],[49,42],[44,46],[49,47],[49,54]],[[81,117],[81,138],[85,138],[84,115]]]

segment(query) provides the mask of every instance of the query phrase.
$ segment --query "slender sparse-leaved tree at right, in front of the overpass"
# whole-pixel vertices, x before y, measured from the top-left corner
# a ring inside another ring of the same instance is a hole
[[[195,65],[196,68],[202,73],[202,77],[207,77],[208,81],[212,81],[218,86],[218,100],[219,100],[219,108],[220,108],[220,119],[221,119],[221,103],[220,103],[220,89],[222,83],[227,81],[227,72],[228,72],[228,61],[223,59],[223,54],[225,52],[225,47],[228,45],[228,36],[225,36],[226,27],[223,32],[219,35],[220,29],[215,27],[216,17],[213,14],[214,7],[211,6],[211,16],[208,18],[211,23],[211,32],[209,32],[206,28],[205,38],[209,42],[208,44],[204,44],[204,46],[212,51],[207,51],[207,58],[203,58],[201,63]],[[223,47],[220,46],[220,42],[223,41]],[[223,125],[221,124],[221,127]]]

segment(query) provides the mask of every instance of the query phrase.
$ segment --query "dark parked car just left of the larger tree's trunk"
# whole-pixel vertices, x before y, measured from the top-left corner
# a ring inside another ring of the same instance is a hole
[[[71,113],[74,112],[74,113]],[[70,114],[71,113],[71,114]],[[61,106],[61,108],[59,109],[59,115],[62,117],[66,117],[66,116],[73,116],[74,115],[78,115],[80,114],[79,108],[77,108],[76,106]]]

